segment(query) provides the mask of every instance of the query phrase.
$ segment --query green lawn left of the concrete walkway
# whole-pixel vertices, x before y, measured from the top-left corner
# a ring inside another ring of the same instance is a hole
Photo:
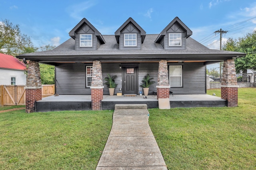
[[[0,107],[1,108],[1,107]],[[0,170],[93,170],[113,111],[0,113]]]

